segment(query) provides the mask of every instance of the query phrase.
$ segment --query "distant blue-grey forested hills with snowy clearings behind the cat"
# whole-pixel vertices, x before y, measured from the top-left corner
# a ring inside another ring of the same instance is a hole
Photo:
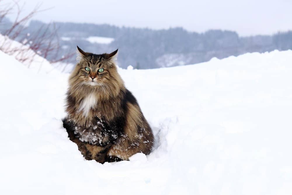
[[[4,26],[9,26],[7,21]],[[33,34],[46,24],[34,20],[24,33]],[[171,67],[195,64],[248,52],[266,52],[292,49],[292,32],[274,35],[240,37],[236,32],[209,30],[188,32],[183,28],[151,30],[147,28],[117,27],[107,24],[55,23],[61,50],[57,58],[75,52],[76,45],[84,51],[97,54],[119,48],[119,66],[132,65],[137,69]],[[53,26],[52,26],[53,28]],[[53,29],[48,29],[53,31]],[[2,28],[3,29],[3,28]],[[23,42],[23,40],[18,40]],[[56,56],[47,56],[49,60]],[[72,56],[67,62],[75,64]]]

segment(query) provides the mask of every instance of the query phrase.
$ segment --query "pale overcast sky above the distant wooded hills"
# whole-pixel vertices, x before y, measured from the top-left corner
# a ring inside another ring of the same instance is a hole
[[[9,0],[5,0],[9,2]],[[292,30],[292,0],[21,0],[28,13],[38,3],[52,8],[35,19],[45,22],[108,23],[127,27],[189,31],[234,30],[241,36]]]

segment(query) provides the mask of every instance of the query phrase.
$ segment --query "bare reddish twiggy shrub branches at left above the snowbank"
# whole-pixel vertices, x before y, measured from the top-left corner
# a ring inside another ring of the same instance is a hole
[[[1,2],[2,0],[0,0]],[[54,59],[50,61],[51,63],[65,61],[75,55],[74,53],[68,53],[58,58],[60,44],[57,34],[58,28],[55,24],[42,25],[38,30],[27,36],[25,33],[26,24],[37,13],[51,8],[41,10],[41,4],[37,4],[30,13],[21,16],[24,6],[25,4],[20,5],[20,1],[13,1],[13,4],[0,4],[0,25],[8,14],[16,11],[14,22],[8,29],[4,30],[4,40],[0,40],[1,51],[15,56],[16,59],[25,62],[28,66],[34,61],[37,54],[44,58]],[[11,39],[21,41],[23,45],[15,46]]]

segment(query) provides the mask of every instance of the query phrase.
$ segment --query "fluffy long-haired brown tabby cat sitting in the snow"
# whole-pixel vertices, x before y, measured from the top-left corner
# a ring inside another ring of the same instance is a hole
[[[80,58],[69,77],[63,119],[70,140],[87,160],[100,163],[149,154],[153,133],[117,72],[118,50],[97,55],[77,49]]]

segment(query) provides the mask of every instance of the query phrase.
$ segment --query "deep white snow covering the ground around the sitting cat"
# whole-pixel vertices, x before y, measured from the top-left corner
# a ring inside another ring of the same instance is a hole
[[[103,165],[62,127],[68,74],[0,59],[1,194],[292,194],[292,51],[120,69],[156,145]]]

